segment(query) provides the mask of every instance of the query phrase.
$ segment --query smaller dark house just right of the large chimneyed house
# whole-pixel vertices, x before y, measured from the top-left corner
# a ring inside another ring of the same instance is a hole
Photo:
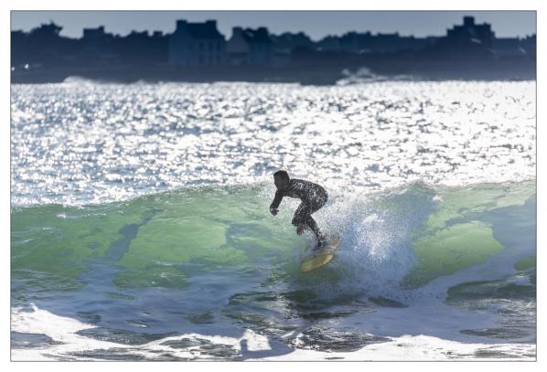
[[[226,45],[231,64],[266,66],[274,64],[274,41],[266,27],[233,27]]]

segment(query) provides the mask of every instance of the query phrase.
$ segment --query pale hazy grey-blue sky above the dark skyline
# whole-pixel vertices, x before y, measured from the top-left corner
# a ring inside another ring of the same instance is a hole
[[[175,21],[216,19],[225,37],[231,27],[268,27],[275,34],[304,31],[317,40],[347,31],[399,32],[403,36],[443,36],[446,28],[462,24],[463,16],[488,22],[497,37],[524,37],[536,32],[532,11],[12,11],[11,29],[25,31],[50,20],[63,27],[61,35],[81,37],[83,27],[104,26],[127,35],[131,30],[172,32]]]

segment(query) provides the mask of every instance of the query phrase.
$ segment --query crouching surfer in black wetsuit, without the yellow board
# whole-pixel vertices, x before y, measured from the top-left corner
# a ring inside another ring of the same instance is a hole
[[[270,212],[277,215],[279,204],[283,197],[295,197],[302,201],[296,208],[292,224],[296,227],[296,234],[300,235],[307,226],[316,235],[317,248],[325,245],[325,236],[317,227],[316,221],[311,214],[327,203],[327,191],[322,186],[302,179],[290,178],[285,171],[274,173],[274,184],[277,187],[274,201],[270,206]]]

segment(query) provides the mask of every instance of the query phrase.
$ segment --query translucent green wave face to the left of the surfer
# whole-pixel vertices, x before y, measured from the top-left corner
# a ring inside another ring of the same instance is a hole
[[[259,189],[199,189],[93,207],[12,212],[12,272],[77,280],[91,260],[115,263],[119,287],[181,286],[199,262],[213,270],[295,250],[299,239],[268,212]]]

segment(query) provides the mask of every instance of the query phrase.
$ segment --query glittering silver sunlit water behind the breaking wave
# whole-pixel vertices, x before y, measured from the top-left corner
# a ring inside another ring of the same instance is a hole
[[[12,202],[89,204],[184,186],[331,188],[535,176],[534,82],[12,87]]]

